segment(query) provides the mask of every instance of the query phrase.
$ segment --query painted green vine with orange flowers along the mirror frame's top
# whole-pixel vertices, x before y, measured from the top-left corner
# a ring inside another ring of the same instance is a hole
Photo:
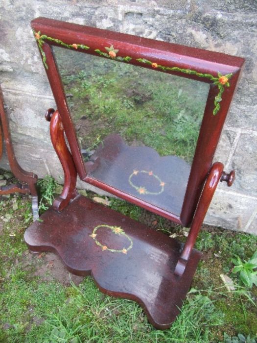
[[[38,32],[33,31],[33,33],[34,33],[34,36],[38,42],[38,46],[39,46],[40,52],[42,54],[43,63],[44,63],[44,66],[46,69],[48,69],[47,57],[46,57],[46,54],[43,50],[43,44],[44,44],[45,40],[55,42],[56,44],[59,44],[62,47],[65,47],[68,49],[75,49],[75,50],[76,49],[83,49],[83,50],[90,49],[90,47],[88,47],[84,44],[76,44],[76,43],[66,44],[59,39],[48,37],[47,35],[44,35],[44,34],[41,35],[40,31],[38,31]],[[96,53],[98,53],[100,56],[110,58],[110,59],[114,59],[116,61],[130,62],[132,60],[132,57],[130,57],[130,56],[126,56],[126,57],[117,56],[117,53],[119,50],[114,49],[113,45],[111,45],[110,48],[106,47],[105,49],[107,52],[101,51],[99,49],[95,49],[94,51]],[[209,80],[211,80],[213,82],[213,84],[216,85],[219,89],[219,93],[214,98],[214,109],[212,112],[214,116],[220,110],[220,102],[222,101],[222,94],[225,90],[225,87],[230,87],[229,79],[233,75],[233,73],[229,73],[226,75],[222,75],[221,73],[218,73],[217,77],[214,77],[213,75],[211,75],[209,73],[199,73],[199,72],[192,70],[192,69],[183,69],[183,68],[179,68],[179,67],[164,67],[164,66],[157,64],[155,62],[148,61],[145,58],[137,58],[136,61],[143,63],[143,64],[148,64],[154,69],[160,69],[160,70],[163,70],[165,72],[170,71],[170,72],[186,73],[186,74],[190,74],[190,75],[196,75],[198,77],[208,78]]]

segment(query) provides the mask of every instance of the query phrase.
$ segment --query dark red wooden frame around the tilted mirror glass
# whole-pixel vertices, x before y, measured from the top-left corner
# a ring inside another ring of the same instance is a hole
[[[81,180],[183,226],[189,226],[218,144],[244,59],[83,25],[37,18],[31,26]],[[180,216],[123,193],[87,175],[64,87],[51,47],[73,49],[210,84],[205,112]],[[112,53],[108,53],[110,47]],[[113,48],[112,48],[113,47]],[[114,50],[118,50],[116,53]]]

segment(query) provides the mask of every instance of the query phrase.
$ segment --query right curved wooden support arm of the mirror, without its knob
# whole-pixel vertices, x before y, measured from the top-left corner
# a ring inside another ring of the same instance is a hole
[[[212,165],[210,169],[210,173],[204,185],[204,189],[200,196],[200,199],[199,199],[196,211],[195,211],[195,215],[191,224],[191,228],[187,236],[187,241],[183,247],[180,258],[178,260],[178,263],[174,271],[176,275],[181,276],[184,273],[190,253],[193,249],[199,230],[204,221],[204,217],[209,208],[210,201],[221,179],[223,168],[224,166],[222,163],[216,162]]]

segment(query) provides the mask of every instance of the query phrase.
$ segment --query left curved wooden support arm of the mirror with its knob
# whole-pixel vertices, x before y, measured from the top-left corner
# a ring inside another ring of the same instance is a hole
[[[62,211],[68,205],[69,201],[77,196],[77,190],[75,188],[77,171],[65,142],[64,128],[59,112],[54,111],[52,108],[49,109],[46,113],[46,119],[50,122],[52,145],[64,170],[63,192],[53,202],[53,208],[57,211]]]

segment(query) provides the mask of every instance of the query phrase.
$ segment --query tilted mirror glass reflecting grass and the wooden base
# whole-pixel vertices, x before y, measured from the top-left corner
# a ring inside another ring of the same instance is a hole
[[[179,216],[209,84],[53,51],[88,176]]]

